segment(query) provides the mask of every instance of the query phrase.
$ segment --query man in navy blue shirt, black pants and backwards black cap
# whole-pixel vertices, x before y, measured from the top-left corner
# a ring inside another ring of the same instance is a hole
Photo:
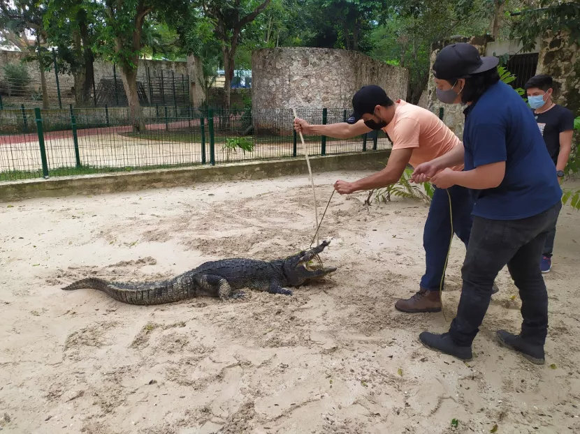
[[[414,180],[470,188],[475,204],[457,315],[448,333],[424,331],[419,338],[427,347],[470,360],[493,280],[507,265],[519,289],[523,322],[520,334],[499,330],[498,341],[543,364],[548,294],[539,260],[562,207],[562,190],[530,109],[500,81],[497,65],[497,58],[482,58],[466,43],[444,47],[433,64],[437,97],[467,105],[463,147],[416,167]],[[463,172],[449,169],[460,162]]]

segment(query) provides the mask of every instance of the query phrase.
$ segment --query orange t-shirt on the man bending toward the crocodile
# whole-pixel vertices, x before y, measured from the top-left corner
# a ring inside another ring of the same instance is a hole
[[[414,148],[409,160],[413,167],[447,154],[461,144],[433,112],[405,100],[397,100],[395,105],[395,116],[383,131],[391,137],[393,149]],[[463,170],[463,164],[451,169]]]

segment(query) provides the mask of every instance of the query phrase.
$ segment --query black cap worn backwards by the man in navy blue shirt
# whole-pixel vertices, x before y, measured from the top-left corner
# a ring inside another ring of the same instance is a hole
[[[483,73],[498,66],[500,59],[493,56],[481,57],[477,48],[467,43],[456,43],[443,47],[433,63],[436,78],[449,80],[465,78]]]

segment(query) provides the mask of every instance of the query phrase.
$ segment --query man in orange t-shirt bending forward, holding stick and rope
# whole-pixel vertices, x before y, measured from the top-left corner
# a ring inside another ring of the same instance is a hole
[[[435,114],[404,100],[393,103],[379,86],[362,87],[352,98],[352,105],[354,112],[347,122],[310,125],[300,118],[294,120],[294,129],[305,134],[346,139],[383,130],[391,138],[393,150],[386,167],[358,181],[336,181],[334,188],[341,195],[396,184],[408,164],[417,167],[461,145],[453,131]],[[453,169],[463,170],[463,165]],[[465,187],[452,186],[447,191],[451,196],[454,232],[467,246],[474,202]],[[435,188],[423,230],[426,271],[419,283],[419,292],[409,299],[399,299],[395,304],[397,310],[407,313],[441,311],[439,290],[450,239],[449,196],[445,190]],[[493,291],[498,291],[495,285]]]

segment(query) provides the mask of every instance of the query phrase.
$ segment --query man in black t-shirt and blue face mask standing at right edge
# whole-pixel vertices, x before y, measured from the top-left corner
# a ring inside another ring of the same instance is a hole
[[[574,114],[566,107],[552,101],[553,80],[550,75],[535,75],[525,83],[525,92],[528,94],[528,103],[537,121],[539,130],[544,136],[548,152],[556,165],[556,174],[560,184],[564,176],[564,169],[572,150],[572,133],[574,132]],[[547,273],[552,267],[552,251],[556,225],[548,234],[540,269]]]

